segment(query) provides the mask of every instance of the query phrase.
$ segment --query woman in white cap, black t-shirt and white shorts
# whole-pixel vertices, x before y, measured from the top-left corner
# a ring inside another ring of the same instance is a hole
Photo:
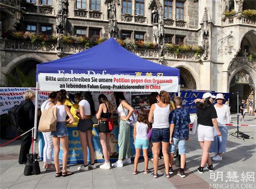
[[[214,141],[214,126],[217,131],[217,135],[220,137],[221,132],[218,127],[217,113],[212,105],[216,96],[211,93],[204,93],[203,99],[196,99],[197,117],[198,117],[198,141],[203,150],[201,165],[197,169],[199,173],[203,173],[205,163],[208,164],[207,169],[214,171],[212,167],[209,149],[211,142]]]

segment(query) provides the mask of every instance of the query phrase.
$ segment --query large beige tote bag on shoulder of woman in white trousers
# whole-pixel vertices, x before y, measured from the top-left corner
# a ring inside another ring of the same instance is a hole
[[[42,111],[38,131],[50,132],[55,131],[57,125],[57,107],[49,107],[49,109]]]

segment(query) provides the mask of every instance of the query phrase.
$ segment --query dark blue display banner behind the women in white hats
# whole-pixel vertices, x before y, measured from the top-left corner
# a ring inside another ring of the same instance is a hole
[[[186,109],[189,114],[197,113],[196,104],[194,102],[197,98],[203,98],[203,94],[205,92],[198,92],[198,91],[181,91],[180,97],[182,98],[182,106]],[[212,95],[217,95],[216,92],[210,92]],[[222,93],[224,95],[225,101],[229,98],[229,93]],[[174,100],[174,98],[178,96],[178,93],[170,93],[170,98]],[[225,103],[224,101],[224,103]],[[216,101],[214,101],[216,103]]]

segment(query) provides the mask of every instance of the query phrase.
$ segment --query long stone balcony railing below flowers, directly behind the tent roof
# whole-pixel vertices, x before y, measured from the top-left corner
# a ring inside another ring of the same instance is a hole
[[[59,53],[56,49],[56,43],[31,43],[30,41],[19,41],[19,40],[9,40],[1,39],[0,40],[0,49],[1,50],[13,50],[13,51],[26,51],[26,52],[41,52],[41,53]],[[74,54],[86,50],[87,48],[84,45],[80,44],[63,44],[62,53],[64,54]],[[158,49],[134,49],[131,50],[135,55],[143,58],[160,58]],[[163,57],[165,59],[176,59],[176,60],[190,60],[198,61],[198,58],[195,57],[194,52],[184,52],[178,53],[177,55],[168,50],[163,50]]]

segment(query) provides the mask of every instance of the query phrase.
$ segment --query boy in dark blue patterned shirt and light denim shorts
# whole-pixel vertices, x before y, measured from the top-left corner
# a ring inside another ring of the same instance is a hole
[[[170,155],[170,166],[173,165],[174,154],[179,149],[179,154],[181,156],[180,171],[177,175],[185,177],[184,167],[186,163],[186,141],[188,141],[189,136],[189,123],[190,117],[187,110],[185,110],[182,105],[181,97],[177,96],[174,99],[176,109],[172,112],[172,121],[170,122],[170,144],[169,145],[169,155]]]

